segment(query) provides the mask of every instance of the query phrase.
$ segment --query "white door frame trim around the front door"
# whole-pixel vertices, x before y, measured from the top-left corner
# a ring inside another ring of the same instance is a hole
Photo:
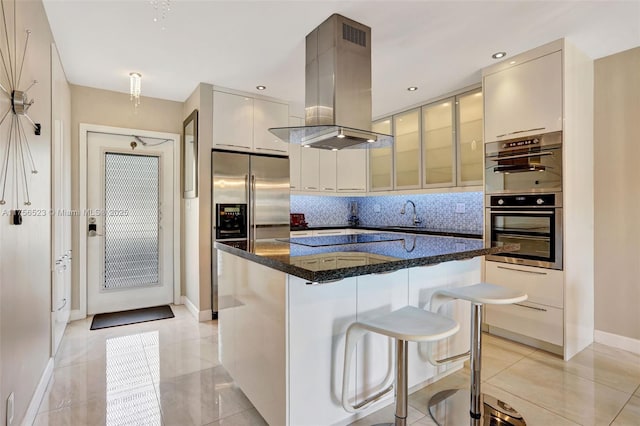
[[[127,129],[123,127],[103,126],[99,124],[80,123],[78,138],[78,284],[79,284],[79,311],[71,311],[71,319],[87,317],[87,153],[89,133],[110,133],[113,135],[136,135],[147,138],[169,139],[173,143],[173,303],[180,304],[180,143],[181,136],[177,133],[154,132],[141,129]],[[74,256],[76,257],[76,256]],[[77,314],[76,314],[77,312]]]

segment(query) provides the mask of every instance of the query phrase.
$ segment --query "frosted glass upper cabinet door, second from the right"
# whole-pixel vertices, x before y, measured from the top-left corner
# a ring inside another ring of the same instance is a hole
[[[422,107],[422,186],[455,185],[454,98]]]

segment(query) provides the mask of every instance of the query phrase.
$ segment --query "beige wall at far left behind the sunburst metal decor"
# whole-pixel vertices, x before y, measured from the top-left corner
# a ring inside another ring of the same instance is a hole
[[[29,116],[42,124],[42,134],[35,136],[22,119],[38,174],[29,176],[33,211],[47,211],[51,206],[51,43],[53,37],[40,1],[19,1],[16,11],[18,45],[24,43],[24,28],[31,29],[29,49],[24,62],[22,83],[38,80],[28,92],[35,103]],[[13,28],[13,2],[3,2],[8,26]],[[4,31],[2,31],[4,34]],[[10,36],[10,40],[13,37]],[[0,43],[5,45],[3,35]],[[3,52],[6,50],[3,48]],[[21,55],[20,55],[21,56]],[[6,78],[2,77],[3,84]],[[8,106],[2,97],[2,109]],[[0,145],[6,146],[10,120],[0,127]],[[0,158],[4,153],[0,153]],[[7,185],[7,204],[1,211],[14,208],[13,191]],[[4,424],[6,400],[15,393],[13,424],[20,424],[34,391],[45,371],[51,349],[51,218],[24,217],[21,226],[10,225],[0,215],[0,419]]]

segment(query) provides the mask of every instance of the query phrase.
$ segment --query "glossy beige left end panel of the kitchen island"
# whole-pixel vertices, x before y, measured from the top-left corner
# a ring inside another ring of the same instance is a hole
[[[218,256],[220,361],[270,425],[285,425],[287,275]]]

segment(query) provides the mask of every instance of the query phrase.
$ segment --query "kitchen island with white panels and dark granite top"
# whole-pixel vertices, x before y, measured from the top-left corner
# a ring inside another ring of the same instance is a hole
[[[348,424],[341,398],[344,335],[354,321],[406,305],[428,306],[434,289],[480,281],[481,256],[518,248],[482,240],[394,233],[258,240],[250,249],[217,242],[220,360],[271,425]],[[439,357],[469,346],[469,306],[440,313],[461,331]],[[392,342],[368,335],[357,348],[350,397],[360,402],[393,374]],[[409,344],[409,387],[426,386],[461,364],[433,367],[426,345]]]

